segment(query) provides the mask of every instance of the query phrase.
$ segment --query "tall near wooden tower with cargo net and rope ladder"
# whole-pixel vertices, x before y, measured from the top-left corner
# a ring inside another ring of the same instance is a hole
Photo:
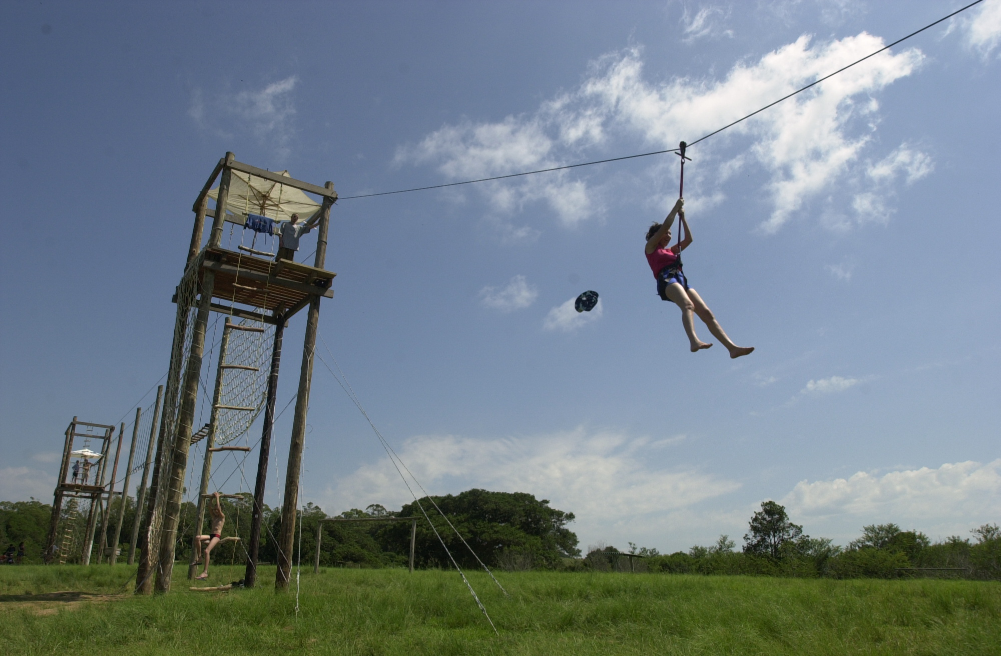
[[[216,179],[219,179],[219,186],[212,189]],[[318,196],[319,202],[306,196],[306,193]],[[208,207],[210,199],[215,201],[214,209]],[[210,473],[212,452],[227,448],[214,446],[213,431],[218,425],[218,413],[223,411],[251,413],[257,410],[253,406],[227,405],[220,402],[219,388],[226,384],[224,381],[227,371],[257,370],[256,367],[248,365],[227,364],[220,354],[217,390],[212,399],[212,420],[202,429],[194,431],[199,377],[205,350],[205,332],[212,312],[226,315],[225,331],[267,330],[269,333],[273,331],[266,395],[262,397],[264,420],[257,458],[251,533],[246,545],[248,559],[244,580],[248,586],[255,584],[261,509],[274,424],[282,335],[288,320],[300,310],[308,309],[303,338],[302,367],[288,452],[281,529],[277,536],[279,560],[275,587],[284,588],[288,585],[320,299],[333,296],[330,286],[335,274],[324,270],[323,266],[326,260],[330,207],[336,199],[337,194],[333,190],[332,182],[319,187],[288,177],[285,172],[266,171],[237,162],[232,153],[226,153],[226,156],[219,160],[195,199],[192,208],[195,216],[191,245],[187,253],[184,274],[174,295],[177,315],[153,478],[146,508],[143,510],[146,516],[144,522],[146,530],[139,537],[141,556],[136,574],[137,592],[152,592],[154,580],[156,591],[166,592],[170,589],[178,515],[192,441],[207,438],[200,490],[204,493]],[[247,224],[248,215],[282,221],[287,220],[292,213],[299,214],[303,222],[312,221],[317,229],[316,251],[312,266],[286,259],[275,261],[271,253],[257,250],[254,247],[255,241],[252,241],[250,246],[241,243],[236,250],[222,247],[225,222],[238,225],[242,230]],[[205,241],[205,217],[211,218],[212,224],[207,242],[202,246]],[[240,319],[242,323],[234,323],[233,319]],[[224,332],[225,334],[228,332]],[[237,447],[228,448],[237,449]],[[198,514],[201,515],[203,510],[204,501],[199,497]]]

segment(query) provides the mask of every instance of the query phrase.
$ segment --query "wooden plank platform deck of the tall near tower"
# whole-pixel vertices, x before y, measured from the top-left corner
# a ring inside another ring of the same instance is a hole
[[[307,264],[255,257],[247,253],[209,248],[201,265],[199,277],[205,271],[215,272],[212,304],[218,312],[228,312],[233,304],[249,305],[274,311],[283,308],[288,314],[307,305],[313,296],[333,298],[330,284],[337,274]],[[245,311],[233,312],[246,316]]]

